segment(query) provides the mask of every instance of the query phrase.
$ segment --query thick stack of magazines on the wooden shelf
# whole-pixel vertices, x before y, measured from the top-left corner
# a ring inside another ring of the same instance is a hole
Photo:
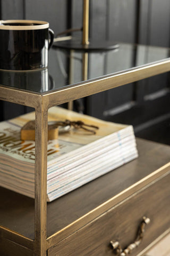
[[[22,141],[21,127],[35,119],[28,113],[0,126],[0,186],[34,197],[35,141]],[[50,108],[49,121],[82,121],[98,126],[96,134],[71,128],[59,133],[47,146],[47,201],[69,193],[85,183],[138,157],[133,127]],[[112,182],[112,181],[111,181]]]

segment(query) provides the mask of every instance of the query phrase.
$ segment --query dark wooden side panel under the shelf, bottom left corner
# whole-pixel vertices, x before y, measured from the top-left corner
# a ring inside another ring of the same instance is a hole
[[[1,256],[33,256],[33,252],[22,245],[16,244],[5,238],[0,238]]]

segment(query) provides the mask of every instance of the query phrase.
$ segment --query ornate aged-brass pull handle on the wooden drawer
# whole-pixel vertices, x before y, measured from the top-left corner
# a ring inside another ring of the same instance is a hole
[[[135,239],[135,241],[130,244],[126,249],[122,249],[120,243],[118,241],[111,241],[111,245],[113,247],[113,250],[115,251],[117,256],[126,256],[128,254],[130,254],[132,252],[133,249],[135,249],[136,247],[139,246],[139,244],[142,241],[143,235],[145,233],[145,226],[147,224],[149,224],[150,219],[147,217],[143,217],[140,226],[139,226],[139,230],[138,230],[138,235],[137,238]]]

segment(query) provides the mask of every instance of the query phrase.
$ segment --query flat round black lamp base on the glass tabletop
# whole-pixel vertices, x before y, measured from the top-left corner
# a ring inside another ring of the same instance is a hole
[[[83,45],[79,40],[68,40],[68,41],[58,41],[53,43],[53,47],[67,49],[67,50],[81,50],[81,51],[108,51],[114,50],[119,47],[115,42],[111,41],[94,41],[89,44]]]

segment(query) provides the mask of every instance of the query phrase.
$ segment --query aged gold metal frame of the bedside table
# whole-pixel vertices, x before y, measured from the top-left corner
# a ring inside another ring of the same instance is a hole
[[[101,78],[91,79],[76,85],[67,86],[64,89],[57,89],[46,93],[33,93],[0,85],[1,100],[33,107],[36,111],[35,240],[24,237],[5,227],[0,227],[1,235],[7,237],[7,239],[11,239],[11,241],[15,243],[27,247],[37,256],[45,256],[49,247],[52,247],[63,239],[64,235],[72,233],[72,226],[70,226],[67,230],[63,231],[62,234],[58,232],[53,236],[47,237],[47,117],[50,107],[167,71],[170,71],[170,59],[150,63]],[[97,212],[102,213],[106,211],[107,207],[112,207],[118,202],[117,200],[134,193],[137,189],[145,186],[147,182],[160,177],[160,175],[166,173],[168,170],[169,165],[163,166],[160,170],[152,173],[149,179],[143,179],[138,184],[135,184],[135,186],[124,191],[118,199],[114,197],[110,202],[107,202],[107,205],[100,205]],[[95,214],[97,213],[93,214],[93,218]],[[86,216],[83,218],[86,218]]]

